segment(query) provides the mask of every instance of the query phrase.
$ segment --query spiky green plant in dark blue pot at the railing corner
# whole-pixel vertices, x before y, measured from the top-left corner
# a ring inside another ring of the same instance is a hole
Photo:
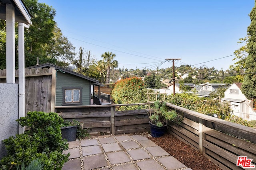
[[[166,102],[154,102],[155,110],[149,114],[149,124],[152,137],[164,135],[167,129],[166,121],[174,121],[178,115],[175,110],[168,110]]]

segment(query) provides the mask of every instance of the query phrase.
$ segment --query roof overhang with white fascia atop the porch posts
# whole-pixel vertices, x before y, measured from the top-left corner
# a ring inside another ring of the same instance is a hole
[[[0,0],[0,19],[6,20],[6,4],[12,4],[15,9],[15,22],[32,24],[31,15],[22,0]]]

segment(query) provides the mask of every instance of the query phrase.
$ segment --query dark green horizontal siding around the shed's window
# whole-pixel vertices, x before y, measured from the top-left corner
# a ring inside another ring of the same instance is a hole
[[[56,79],[55,106],[62,106],[63,104],[62,87],[82,87],[82,105],[90,105],[90,81],[77,76],[73,76],[69,73],[62,73],[60,71],[58,71]]]

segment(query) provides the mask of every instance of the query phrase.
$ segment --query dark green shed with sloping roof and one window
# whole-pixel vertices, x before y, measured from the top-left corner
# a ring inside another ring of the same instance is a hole
[[[98,80],[54,64],[39,64],[28,68],[51,67],[56,70],[55,106],[92,105],[91,94],[94,87],[104,86]]]

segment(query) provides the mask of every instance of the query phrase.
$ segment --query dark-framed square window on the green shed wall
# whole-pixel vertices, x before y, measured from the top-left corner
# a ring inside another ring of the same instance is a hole
[[[82,88],[67,87],[63,89],[63,105],[82,104]]]

